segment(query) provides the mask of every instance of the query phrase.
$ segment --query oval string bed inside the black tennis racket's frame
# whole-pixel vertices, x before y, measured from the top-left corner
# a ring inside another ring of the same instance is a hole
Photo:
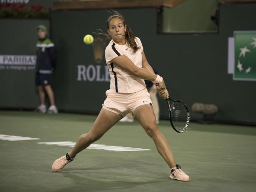
[[[181,102],[172,105],[172,124],[177,131],[183,131],[187,124],[187,108]]]

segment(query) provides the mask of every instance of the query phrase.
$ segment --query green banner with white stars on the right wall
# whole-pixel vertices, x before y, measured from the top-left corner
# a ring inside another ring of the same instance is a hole
[[[234,80],[256,81],[256,31],[235,31]]]

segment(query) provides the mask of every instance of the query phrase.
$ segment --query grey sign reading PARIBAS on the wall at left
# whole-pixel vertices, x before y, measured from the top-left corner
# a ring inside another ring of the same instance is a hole
[[[36,55],[0,55],[0,70],[34,70]]]

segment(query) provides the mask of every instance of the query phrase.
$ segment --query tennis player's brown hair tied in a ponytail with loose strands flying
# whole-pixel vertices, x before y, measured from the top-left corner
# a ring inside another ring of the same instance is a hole
[[[125,40],[126,40],[126,44],[133,49],[133,52],[135,53],[138,49],[140,49],[140,47],[138,47],[138,45],[135,42],[135,37],[133,34],[133,31],[129,28],[129,26],[126,24],[126,21],[123,18],[123,15],[120,14],[119,12],[115,11],[115,10],[111,10],[108,11],[111,15],[108,17],[107,19],[107,29],[109,30],[109,22],[113,19],[113,18],[120,18],[123,21],[123,25],[126,26],[126,32],[125,32]],[[102,30],[100,33],[94,33],[94,34],[103,34],[105,35],[108,39],[111,39],[111,36],[109,34],[104,33]]]

